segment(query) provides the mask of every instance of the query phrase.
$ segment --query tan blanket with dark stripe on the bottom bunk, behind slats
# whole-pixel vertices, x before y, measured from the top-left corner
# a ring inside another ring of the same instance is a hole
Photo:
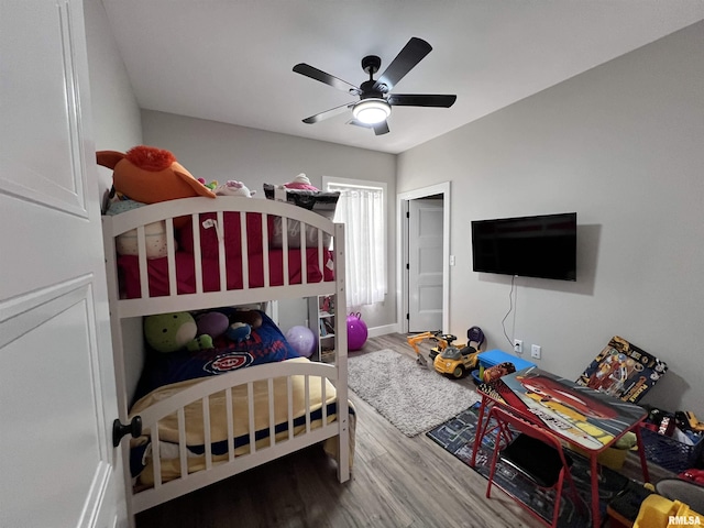
[[[282,369],[285,371],[286,363],[309,362],[305,358],[297,358],[282,362]],[[310,430],[320,428],[323,425],[323,416],[326,424],[331,424],[337,419],[337,393],[334,386],[324,380],[320,383],[319,377],[310,376],[308,383],[308,399],[306,399],[306,376],[290,376],[293,396],[293,436],[305,432],[308,428],[307,421],[310,420]],[[161,387],[153,391],[147,396],[141,398],[132,407],[131,416],[139,415],[151,406],[163,402],[178,392],[189,388],[194,384],[202,383],[202,380],[190,380],[177,384]],[[268,382],[258,381],[252,384],[253,417],[255,449],[266,449],[272,446],[271,442],[271,420],[270,420],[270,396]],[[209,397],[209,421],[210,421],[210,450],[212,453],[212,462],[227,462],[230,459],[230,446],[234,446],[234,455],[241,457],[249,454],[250,449],[250,396],[248,385],[238,385],[229,389],[231,393],[231,415],[233,440],[230,442],[228,432],[228,397],[226,391],[216,393]],[[324,391],[324,413],[323,413],[323,391]],[[274,443],[286,441],[289,438],[289,388],[287,377],[276,377],[273,380],[274,394]],[[187,471],[194,473],[206,469],[206,448],[205,448],[205,428],[204,428],[204,408],[201,400],[194,402],[184,408],[185,421],[185,439],[187,450]],[[307,410],[310,418],[307,417]],[[354,455],[354,431],[355,431],[355,411],[352,405],[349,405],[350,419],[350,464],[352,464]],[[176,414],[166,417],[158,422],[158,451],[162,482],[168,482],[178,479],[182,475],[182,460],[179,454],[179,419]],[[133,476],[136,476],[135,488],[152,487],[154,485],[154,447],[152,446],[151,431],[144,430],[143,435],[132,440],[131,450],[131,470]],[[330,438],[323,442],[324,450],[332,457],[337,457],[339,441],[337,437]]]

